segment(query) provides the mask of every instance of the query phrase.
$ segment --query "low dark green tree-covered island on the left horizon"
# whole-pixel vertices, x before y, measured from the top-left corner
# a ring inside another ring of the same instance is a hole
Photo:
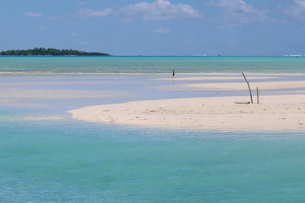
[[[2,56],[111,56],[106,53],[84,52],[72,49],[34,48],[27,50],[8,50],[0,52]]]

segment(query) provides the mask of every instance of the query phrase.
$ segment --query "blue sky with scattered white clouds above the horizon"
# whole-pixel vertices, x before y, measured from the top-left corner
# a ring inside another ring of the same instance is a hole
[[[10,0],[0,18],[0,50],[305,54],[305,0]]]

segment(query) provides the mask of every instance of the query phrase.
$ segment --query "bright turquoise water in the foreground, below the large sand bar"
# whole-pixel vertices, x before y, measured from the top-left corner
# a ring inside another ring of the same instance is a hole
[[[1,126],[2,202],[303,201],[300,132]]]

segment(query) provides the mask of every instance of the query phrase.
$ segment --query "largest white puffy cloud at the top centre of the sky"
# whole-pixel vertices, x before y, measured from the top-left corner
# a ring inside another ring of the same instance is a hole
[[[178,17],[199,18],[199,12],[187,4],[171,4],[168,0],[156,0],[153,3],[140,2],[119,9],[120,14],[135,16],[142,14],[143,20],[168,20]]]

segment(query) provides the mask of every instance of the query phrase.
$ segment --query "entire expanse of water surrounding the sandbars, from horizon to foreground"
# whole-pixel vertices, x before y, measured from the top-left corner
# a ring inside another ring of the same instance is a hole
[[[0,57],[0,72],[302,73],[304,61],[303,57]],[[65,113],[132,100],[248,94],[247,89],[155,90],[158,85],[185,83],[151,80],[156,77],[165,76],[0,76],[0,202],[303,202],[303,129],[147,128],[80,122]],[[48,119],[54,116],[60,119]]]

